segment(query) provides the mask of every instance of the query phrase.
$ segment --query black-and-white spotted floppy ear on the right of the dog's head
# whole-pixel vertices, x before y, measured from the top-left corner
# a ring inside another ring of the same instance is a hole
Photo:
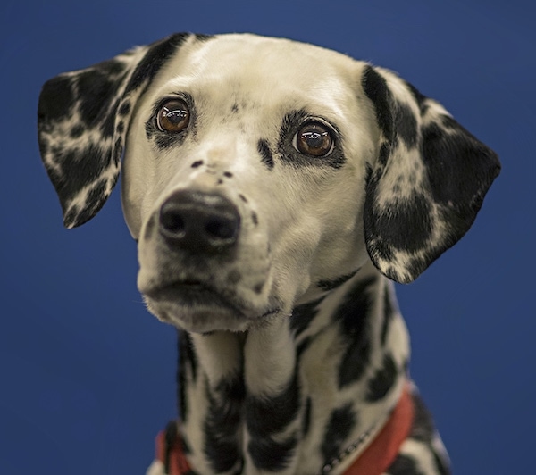
[[[500,164],[440,104],[394,73],[367,65],[362,86],[380,129],[378,160],[366,179],[365,242],[383,274],[407,283],[464,236]]]

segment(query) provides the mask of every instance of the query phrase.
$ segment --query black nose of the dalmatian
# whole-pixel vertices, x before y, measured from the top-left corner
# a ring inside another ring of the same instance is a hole
[[[170,246],[196,254],[216,254],[235,246],[240,216],[220,195],[178,191],[160,208],[160,233]]]

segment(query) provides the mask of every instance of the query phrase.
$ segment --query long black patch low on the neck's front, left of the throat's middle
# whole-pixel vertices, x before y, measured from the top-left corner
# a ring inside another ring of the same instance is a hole
[[[240,460],[239,424],[245,394],[240,377],[224,379],[214,390],[207,384],[204,453],[216,473],[230,471]]]

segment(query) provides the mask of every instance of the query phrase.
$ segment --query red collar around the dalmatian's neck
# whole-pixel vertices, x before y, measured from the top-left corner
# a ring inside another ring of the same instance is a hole
[[[381,475],[387,471],[409,436],[413,419],[414,403],[406,386],[389,420],[344,475]],[[156,437],[156,459],[163,463],[168,475],[195,473],[186,460],[176,422],[170,422],[168,428]]]

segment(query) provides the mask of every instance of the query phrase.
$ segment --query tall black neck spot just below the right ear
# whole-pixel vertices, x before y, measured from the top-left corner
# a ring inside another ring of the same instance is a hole
[[[376,283],[376,277],[357,282],[351,288],[339,308],[333,314],[339,321],[340,332],[347,349],[339,364],[339,388],[343,388],[360,379],[368,367],[371,356],[371,338],[369,319],[373,314],[373,296],[370,287]]]

